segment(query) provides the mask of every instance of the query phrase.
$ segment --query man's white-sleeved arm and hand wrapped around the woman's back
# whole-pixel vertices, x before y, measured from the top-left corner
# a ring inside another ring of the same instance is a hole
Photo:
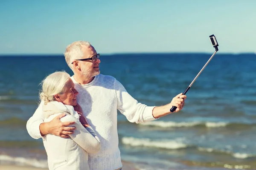
[[[42,111],[43,105],[44,103],[41,102],[33,116],[30,117],[27,121],[26,128],[29,135],[34,139],[39,139],[44,137],[44,135],[47,133],[52,133],[55,136],[68,138],[68,135],[73,133],[75,127],[67,126],[72,125],[75,122],[61,122],[61,117],[65,116],[65,114],[61,114],[52,119],[51,122],[44,123],[44,116]]]

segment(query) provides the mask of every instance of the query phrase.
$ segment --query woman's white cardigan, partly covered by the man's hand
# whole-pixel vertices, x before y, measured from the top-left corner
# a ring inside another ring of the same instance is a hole
[[[84,128],[79,122],[79,114],[73,106],[61,102],[49,102],[43,105],[44,122],[50,122],[55,116],[66,113],[61,122],[74,121],[76,130],[70,138],[61,138],[47,134],[43,138],[48,156],[49,170],[89,170],[88,153],[100,150],[99,138],[91,127]]]

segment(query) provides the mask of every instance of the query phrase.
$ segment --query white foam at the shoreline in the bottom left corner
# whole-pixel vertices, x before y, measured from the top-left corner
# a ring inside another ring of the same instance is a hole
[[[24,157],[12,157],[8,155],[0,155],[0,161],[8,161],[12,164],[28,165],[32,167],[47,168],[47,160],[38,160]]]

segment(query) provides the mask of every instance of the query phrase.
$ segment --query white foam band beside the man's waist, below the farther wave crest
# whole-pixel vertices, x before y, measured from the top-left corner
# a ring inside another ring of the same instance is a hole
[[[187,144],[176,142],[175,140],[151,140],[147,138],[139,139],[134,137],[123,137],[123,144],[129,144],[131,146],[145,146],[145,147],[157,147],[163,149],[179,149],[188,147]]]

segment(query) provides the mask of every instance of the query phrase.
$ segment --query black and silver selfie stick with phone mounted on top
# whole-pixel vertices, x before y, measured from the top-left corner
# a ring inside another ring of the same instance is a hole
[[[216,52],[218,51],[218,42],[213,34],[210,35],[209,37],[210,37],[213,47],[215,48],[215,52],[212,54],[212,57],[213,57],[216,54]],[[198,73],[198,75],[195,77],[195,79],[193,79],[193,81],[190,83],[190,85],[186,88],[186,90],[183,92],[183,94],[186,94],[186,92],[189,91],[189,88],[191,88],[191,86],[193,85],[195,80],[198,78],[198,76],[201,74],[201,72],[204,70],[204,68],[207,66],[207,64],[211,61],[212,57],[207,61],[207,63],[204,65],[204,67],[201,69],[201,71]],[[176,110],[176,108],[177,108],[176,106],[172,106],[170,111],[174,112]]]

